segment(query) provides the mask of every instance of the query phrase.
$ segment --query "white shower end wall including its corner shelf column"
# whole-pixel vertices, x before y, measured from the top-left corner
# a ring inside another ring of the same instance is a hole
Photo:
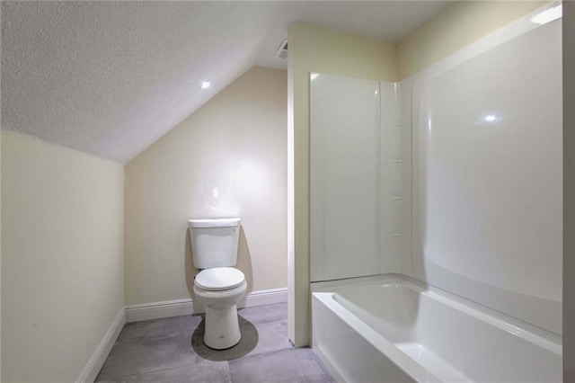
[[[323,74],[310,84],[311,281],[401,272],[411,88]]]

